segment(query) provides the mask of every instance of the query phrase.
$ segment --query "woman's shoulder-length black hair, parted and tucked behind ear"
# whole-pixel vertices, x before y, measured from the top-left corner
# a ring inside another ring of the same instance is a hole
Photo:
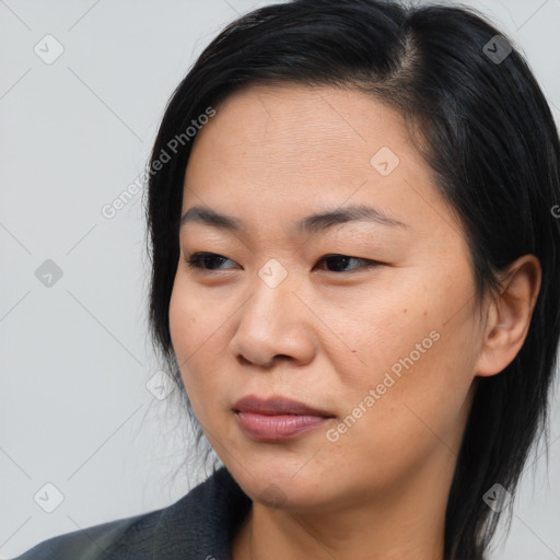
[[[294,0],[229,24],[172,95],[149,170],[150,328],[187,406],[168,324],[194,141],[186,131],[238,89],[290,82],[359,89],[406,117],[464,226],[475,301],[499,292],[500,271],[517,257],[540,261],[522,349],[500,374],[477,378],[448,497],[446,560],[480,559],[499,521],[485,493],[500,483],[513,494],[547,432],[560,336],[560,220],[551,211],[560,208],[560,142],[549,106],[511,39],[470,8]]]

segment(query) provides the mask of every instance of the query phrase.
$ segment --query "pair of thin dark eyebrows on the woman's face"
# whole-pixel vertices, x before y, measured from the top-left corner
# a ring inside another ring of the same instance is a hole
[[[398,228],[408,228],[408,224],[390,218],[381,210],[366,205],[354,205],[328,210],[317,214],[311,214],[294,225],[294,233],[311,234],[318,233],[346,222],[368,221],[376,222],[382,225],[390,225]],[[198,222],[220,230],[231,231],[233,233],[242,233],[244,231],[243,222],[232,215],[225,215],[209,208],[195,206],[189,208],[180,219],[180,225],[187,222]]]

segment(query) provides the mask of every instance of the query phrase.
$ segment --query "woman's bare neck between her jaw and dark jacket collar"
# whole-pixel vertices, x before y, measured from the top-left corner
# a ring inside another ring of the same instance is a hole
[[[443,560],[450,458],[384,497],[329,511],[272,510],[254,502],[233,541],[234,560]],[[421,480],[420,480],[420,479]],[[445,483],[442,485],[442,479]]]

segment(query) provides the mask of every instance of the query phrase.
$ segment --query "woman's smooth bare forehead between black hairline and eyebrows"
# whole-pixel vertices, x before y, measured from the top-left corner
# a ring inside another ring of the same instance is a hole
[[[276,220],[364,203],[417,228],[427,228],[422,214],[442,221],[443,201],[401,115],[371,95],[259,84],[215,109],[192,147],[184,212],[202,205],[232,213],[234,203],[249,220]]]

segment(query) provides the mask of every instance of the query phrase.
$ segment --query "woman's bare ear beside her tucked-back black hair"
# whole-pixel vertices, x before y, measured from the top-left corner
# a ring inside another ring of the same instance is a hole
[[[500,373],[521,350],[540,290],[540,262],[535,255],[524,255],[508,267],[504,278],[501,294],[488,304],[475,375]]]

